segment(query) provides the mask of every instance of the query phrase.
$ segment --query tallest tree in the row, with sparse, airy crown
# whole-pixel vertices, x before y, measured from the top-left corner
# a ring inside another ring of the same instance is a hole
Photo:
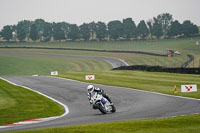
[[[170,29],[170,26],[173,22],[173,17],[169,13],[159,14],[157,16],[158,23],[162,25],[163,35],[166,38],[167,32]]]

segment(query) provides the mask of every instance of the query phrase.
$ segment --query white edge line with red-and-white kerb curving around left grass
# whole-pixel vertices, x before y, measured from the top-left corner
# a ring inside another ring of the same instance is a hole
[[[39,118],[39,119],[33,119],[33,120],[20,121],[20,122],[16,122],[16,123],[13,123],[13,124],[8,124],[8,125],[2,125],[2,126],[0,125],[0,128],[7,128],[7,127],[13,127],[13,126],[21,126],[21,125],[26,125],[26,124],[33,124],[33,123],[46,122],[46,121],[55,120],[55,119],[64,117],[65,115],[67,115],[67,114],[69,113],[69,109],[68,109],[67,105],[65,105],[65,104],[63,104],[63,103],[57,101],[56,99],[54,99],[54,98],[52,98],[52,97],[49,97],[49,96],[47,96],[47,95],[45,95],[45,94],[43,94],[43,93],[41,93],[41,92],[39,92],[39,91],[33,90],[33,89],[28,88],[28,87],[26,87],[26,86],[18,85],[18,84],[16,84],[16,83],[13,83],[13,82],[11,82],[11,81],[9,81],[9,80],[7,80],[7,79],[4,79],[4,78],[2,78],[2,77],[0,77],[0,79],[2,79],[2,80],[4,80],[4,81],[7,81],[8,83],[13,84],[13,85],[15,85],[15,86],[20,86],[20,87],[26,88],[26,89],[28,89],[28,90],[31,90],[31,91],[33,91],[33,92],[36,92],[36,93],[38,93],[38,94],[40,94],[40,95],[42,95],[42,96],[45,96],[45,97],[51,99],[52,101],[54,101],[54,102],[60,104],[61,106],[63,106],[63,107],[64,107],[64,110],[65,110],[65,113],[62,114],[61,116],[53,116],[53,117],[47,117],[47,118]]]

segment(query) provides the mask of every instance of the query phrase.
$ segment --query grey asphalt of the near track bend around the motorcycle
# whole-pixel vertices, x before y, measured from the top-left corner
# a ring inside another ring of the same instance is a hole
[[[2,128],[0,131],[165,118],[200,112],[200,100],[96,84],[96,87],[108,92],[117,108],[116,113],[102,115],[98,110],[93,110],[89,104],[86,90],[88,83],[47,76],[3,78],[37,90],[66,104],[69,108],[69,114],[48,122]]]

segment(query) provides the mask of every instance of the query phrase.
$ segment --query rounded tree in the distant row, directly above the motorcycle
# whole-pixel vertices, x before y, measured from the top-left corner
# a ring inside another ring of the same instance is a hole
[[[106,37],[107,26],[104,22],[96,24],[96,37],[101,41]]]

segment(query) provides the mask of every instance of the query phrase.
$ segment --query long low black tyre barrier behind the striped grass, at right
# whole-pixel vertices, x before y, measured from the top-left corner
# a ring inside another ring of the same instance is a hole
[[[183,73],[183,74],[200,74],[200,68],[166,68],[161,66],[148,66],[148,65],[134,65],[134,66],[121,66],[113,70],[141,70],[148,72],[169,72],[169,73]]]

